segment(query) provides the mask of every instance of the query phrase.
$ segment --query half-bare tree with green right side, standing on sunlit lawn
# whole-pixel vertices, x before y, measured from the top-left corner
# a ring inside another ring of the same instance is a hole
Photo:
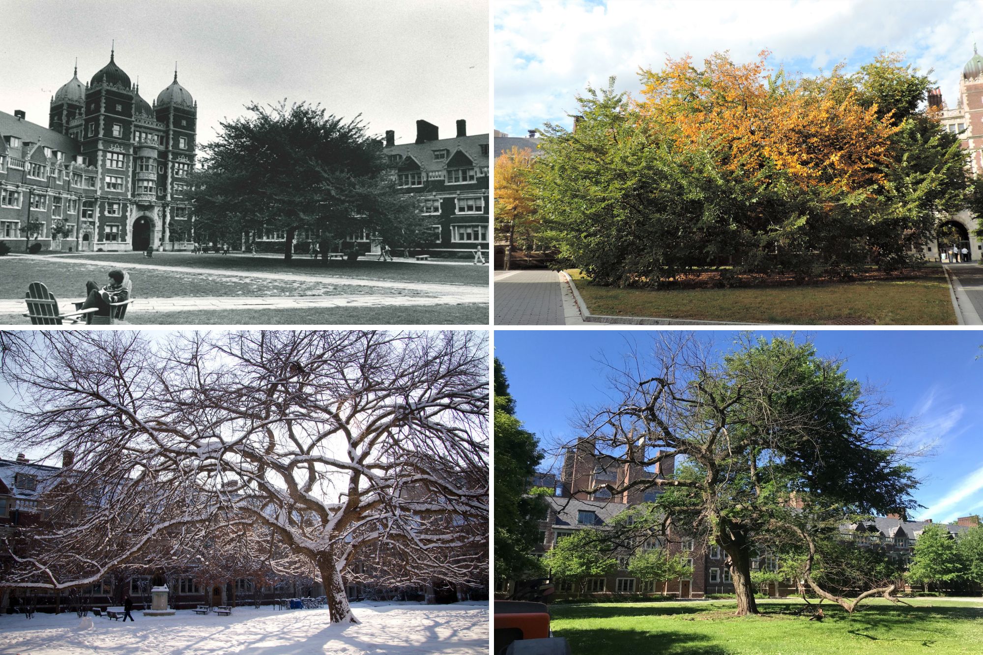
[[[661,333],[651,355],[610,370],[611,400],[581,413],[582,434],[618,462],[675,470],[603,488],[661,489],[655,506],[677,530],[723,549],[739,614],[756,612],[750,560],[766,535],[803,546],[855,515],[915,505],[896,449],[905,424],[809,343],[744,336],[721,354]]]

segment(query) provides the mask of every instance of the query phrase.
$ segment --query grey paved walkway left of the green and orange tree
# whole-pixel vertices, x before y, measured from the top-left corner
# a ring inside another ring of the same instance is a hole
[[[495,326],[583,324],[573,294],[553,270],[499,270],[494,274]]]

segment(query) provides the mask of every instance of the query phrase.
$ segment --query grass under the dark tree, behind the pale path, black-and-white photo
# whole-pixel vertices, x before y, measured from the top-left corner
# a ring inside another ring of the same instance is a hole
[[[96,264],[111,261],[152,264],[160,267],[208,268],[218,273],[241,270],[245,272],[287,272],[331,277],[358,277],[396,282],[472,284],[476,286],[487,286],[489,283],[489,268],[487,266],[378,262],[375,259],[360,259],[356,262],[331,260],[327,265],[324,265],[321,260],[312,260],[309,257],[295,257],[287,263],[280,258],[251,257],[242,254],[155,253],[153,259],[148,260],[143,253],[133,252],[107,253],[104,255],[81,254],[59,257],[58,259],[88,261]],[[105,266],[103,265],[102,268]],[[103,274],[103,276],[105,275]]]

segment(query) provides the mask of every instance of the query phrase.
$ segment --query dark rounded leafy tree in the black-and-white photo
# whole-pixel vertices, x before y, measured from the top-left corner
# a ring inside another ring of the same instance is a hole
[[[342,239],[366,229],[390,242],[415,233],[416,208],[396,192],[381,145],[358,119],[304,102],[247,109],[251,116],[221,123],[202,146],[205,170],[192,190],[197,238],[281,231],[290,259],[298,230]]]

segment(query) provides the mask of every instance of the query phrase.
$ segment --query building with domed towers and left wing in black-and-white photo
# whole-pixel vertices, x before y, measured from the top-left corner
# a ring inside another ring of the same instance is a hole
[[[48,128],[0,112],[0,240],[119,251],[192,245],[187,177],[198,103],[174,82],[151,105],[116,65],[75,75],[51,98]]]

